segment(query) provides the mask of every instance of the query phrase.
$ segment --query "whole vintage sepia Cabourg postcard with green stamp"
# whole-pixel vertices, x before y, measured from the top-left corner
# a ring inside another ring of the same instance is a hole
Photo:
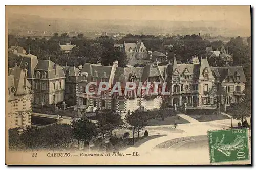
[[[250,6],[6,6],[7,165],[251,164]]]

